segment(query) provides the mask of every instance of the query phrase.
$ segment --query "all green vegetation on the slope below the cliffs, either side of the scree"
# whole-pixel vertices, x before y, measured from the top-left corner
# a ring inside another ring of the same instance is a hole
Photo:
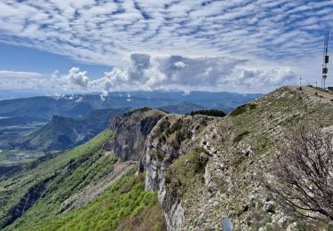
[[[4,206],[0,211],[5,224],[20,198],[53,176],[36,203],[4,230],[165,230],[156,193],[145,191],[144,175],[136,177],[136,168],[82,208],[63,212],[70,205],[65,203],[67,198],[113,170],[116,158],[100,148],[112,135],[112,131],[103,131],[82,146],[28,164],[14,177],[1,181]]]

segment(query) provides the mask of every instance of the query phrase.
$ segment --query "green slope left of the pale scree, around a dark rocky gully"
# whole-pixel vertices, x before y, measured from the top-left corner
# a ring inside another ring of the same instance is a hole
[[[71,194],[112,170],[115,157],[104,155],[101,145],[113,132],[106,130],[66,152],[44,156],[25,165],[11,178],[0,181],[0,227],[11,219],[11,211],[28,190],[54,177],[42,198],[17,220],[17,223],[38,221],[53,216],[63,208],[61,203]],[[56,172],[56,173],[55,173]]]

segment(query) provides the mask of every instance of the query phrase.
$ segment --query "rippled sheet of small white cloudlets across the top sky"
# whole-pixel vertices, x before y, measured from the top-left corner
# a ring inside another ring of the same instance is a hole
[[[309,35],[306,28],[333,26],[332,7],[329,1],[286,0],[7,0],[0,3],[0,30],[6,41],[15,37],[13,43],[119,67],[120,57],[138,52],[262,56],[275,48],[276,55],[292,57],[316,51],[318,30]]]

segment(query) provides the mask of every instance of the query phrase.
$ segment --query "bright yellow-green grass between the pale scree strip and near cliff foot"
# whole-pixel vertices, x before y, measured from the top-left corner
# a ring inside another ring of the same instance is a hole
[[[135,177],[133,168],[98,199],[83,208],[59,214],[43,221],[27,220],[16,230],[165,230],[163,211],[156,193],[145,191],[144,174]],[[154,213],[152,213],[154,212]],[[153,218],[153,219],[151,219]],[[13,227],[8,228],[14,229]]]

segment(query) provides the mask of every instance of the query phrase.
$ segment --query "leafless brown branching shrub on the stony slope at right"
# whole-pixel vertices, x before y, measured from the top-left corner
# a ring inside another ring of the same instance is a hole
[[[274,200],[306,219],[333,224],[332,133],[298,125],[278,145],[263,180]]]

